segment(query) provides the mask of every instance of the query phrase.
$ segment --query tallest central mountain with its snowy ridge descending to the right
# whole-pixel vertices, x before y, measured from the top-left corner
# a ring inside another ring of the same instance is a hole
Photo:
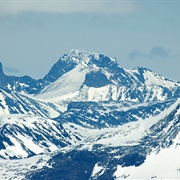
[[[61,57],[44,80],[48,83],[36,97],[66,105],[71,101],[166,100],[179,97],[180,87],[147,68],[123,69],[116,59],[77,49]]]

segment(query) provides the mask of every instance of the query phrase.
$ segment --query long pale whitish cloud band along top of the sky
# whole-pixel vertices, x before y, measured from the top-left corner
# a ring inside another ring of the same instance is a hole
[[[0,15],[23,12],[128,14],[137,11],[128,0],[0,0]]]

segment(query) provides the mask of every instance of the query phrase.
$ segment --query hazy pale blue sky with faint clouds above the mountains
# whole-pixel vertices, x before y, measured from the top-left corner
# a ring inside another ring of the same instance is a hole
[[[42,78],[71,49],[116,57],[180,81],[180,1],[0,1],[0,61]]]

